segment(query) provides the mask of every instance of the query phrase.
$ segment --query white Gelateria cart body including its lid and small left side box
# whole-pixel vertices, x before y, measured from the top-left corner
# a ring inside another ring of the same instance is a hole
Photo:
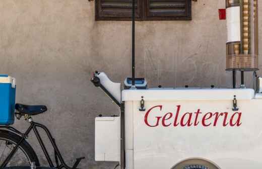
[[[221,169],[262,168],[262,94],[253,89],[120,92],[116,85],[124,111],[96,118],[97,161],[123,163],[124,152],[126,169],[184,169],[177,165],[188,159]]]

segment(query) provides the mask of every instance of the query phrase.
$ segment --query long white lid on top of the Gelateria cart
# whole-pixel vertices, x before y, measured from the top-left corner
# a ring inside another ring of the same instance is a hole
[[[251,100],[253,89],[148,89],[123,90],[122,101]]]

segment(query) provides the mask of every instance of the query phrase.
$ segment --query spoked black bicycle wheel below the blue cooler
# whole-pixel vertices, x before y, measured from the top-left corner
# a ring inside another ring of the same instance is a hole
[[[0,166],[20,140],[21,137],[19,135],[6,130],[0,130]],[[39,160],[35,151],[24,140],[6,166],[30,166],[32,162],[35,162],[35,165],[39,166]]]

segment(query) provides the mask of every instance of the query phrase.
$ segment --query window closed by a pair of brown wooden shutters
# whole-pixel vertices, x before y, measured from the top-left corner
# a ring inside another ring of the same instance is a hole
[[[96,20],[130,21],[132,0],[95,0]],[[191,0],[136,0],[136,19],[191,20]]]

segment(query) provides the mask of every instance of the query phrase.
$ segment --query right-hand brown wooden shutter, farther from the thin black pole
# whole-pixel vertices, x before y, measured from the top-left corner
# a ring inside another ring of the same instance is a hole
[[[191,20],[191,0],[145,1],[145,20]]]

